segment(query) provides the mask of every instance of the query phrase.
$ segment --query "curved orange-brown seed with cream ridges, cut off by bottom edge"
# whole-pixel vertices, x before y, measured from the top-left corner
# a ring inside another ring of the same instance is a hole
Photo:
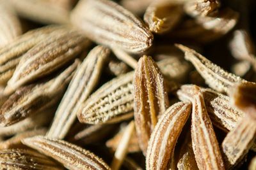
[[[166,110],[150,136],[148,142],[147,169],[166,169],[173,161],[177,139],[191,112],[190,103],[175,103]],[[173,164],[170,166],[173,169]]]

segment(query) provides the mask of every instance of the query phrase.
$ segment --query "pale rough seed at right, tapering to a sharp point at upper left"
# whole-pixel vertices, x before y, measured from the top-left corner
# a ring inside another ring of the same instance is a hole
[[[185,59],[192,62],[196,70],[204,77],[205,82],[214,90],[219,92],[227,92],[228,88],[236,82],[246,82],[239,76],[228,73],[221,67],[213,64],[210,60],[206,59],[200,53],[183,46],[177,45],[183,52],[185,52]]]

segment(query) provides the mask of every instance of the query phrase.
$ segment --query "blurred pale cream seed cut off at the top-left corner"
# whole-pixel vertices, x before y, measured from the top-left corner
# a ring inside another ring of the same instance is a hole
[[[2,48],[4,45],[16,39],[22,31],[19,18],[15,14],[15,11],[13,11],[12,6],[1,0],[0,11],[0,48]]]

